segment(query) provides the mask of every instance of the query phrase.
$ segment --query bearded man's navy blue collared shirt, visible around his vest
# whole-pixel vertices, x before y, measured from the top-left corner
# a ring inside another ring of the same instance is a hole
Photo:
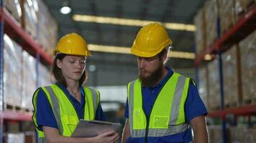
[[[168,69],[168,74],[165,75],[164,79],[158,83],[155,87],[142,87],[142,100],[143,100],[143,110],[145,112],[146,117],[150,116],[150,112],[152,107],[154,106],[155,100],[157,99],[157,95],[165,85],[165,83],[170,79],[173,75],[173,70],[165,67]],[[147,103],[147,104],[145,104]],[[185,102],[185,117],[186,122],[189,123],[191,119],[194,117],[198,117],[201,115],[206,115],[207,110],[202,102],[201,97],[198,94],[198,90],[196,86],[191,83],[188,89],[188,97]],[[129,117],[129,107],[128,102],[126,104],[126,109],[124,112],[124,117]],[[173,134],[168,137],[148,137],[148,142],[191,142],[192,140],[192,133],[191,128],[187,129],[185,132],[181,132],[179,134]],[[145,142],[144,138],[129,138],[127,142]]]

